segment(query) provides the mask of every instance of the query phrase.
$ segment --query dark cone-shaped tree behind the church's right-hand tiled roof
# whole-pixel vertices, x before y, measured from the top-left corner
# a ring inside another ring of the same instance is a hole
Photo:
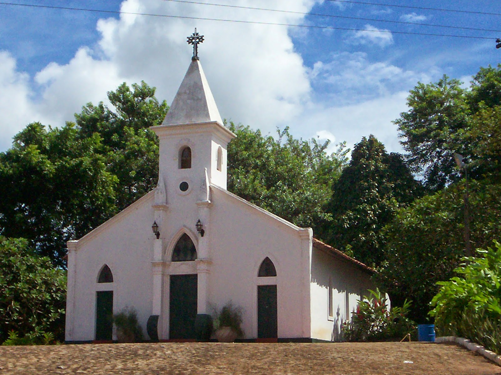
[[[362,262],[379,264],[385,241],[381,229],[419,193],[401,156],[388,154],[374,135],[363,137],[332,185],[327,212],[333,220],[325,226],[325,239]]]

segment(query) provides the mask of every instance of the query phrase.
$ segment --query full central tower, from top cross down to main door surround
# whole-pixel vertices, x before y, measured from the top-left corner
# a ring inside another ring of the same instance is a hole
[[[215,235],[211,231],[210,185],[226,188],[226,145],[236,136],[222,123],[198,58],[203,35],[195,29],[187,41],[193,44],[191,63],[163,122],[151,127],[160,142],[152,205],[160,233],[153,242],[152,316],[158,317],[163,338],[169,313],[164,290],[169,288],[170,276],[179,274],[180,265],[172,259],[171,248],[180,233],[196,247],[196,259],[182,262],[187,267],[182,271],[197,274],[197,313],[207,312],[209,245]]]

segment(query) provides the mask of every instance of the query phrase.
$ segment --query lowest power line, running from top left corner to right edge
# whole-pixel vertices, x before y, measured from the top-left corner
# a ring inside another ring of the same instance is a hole
[[[112,14],[147,15],[147,16],[155,16],[155,17],[182,18],[182,19],[197,19],[197,20],[220,21],[220,22],[235,22],[235,23],[266,24],[266,25],[288,26],[288,27],[307,27],[307,28],[319,28],[319,29],[330,29],[330,30],[368,31],[368,32],[386,32],[386,33],[394,33],[394,34],[423,35],[423,36],[445,36],[445,37],[456,37],[456,38],[467,38],[467,39],[489,39],[489,40],[490,40],[490,39],[495,39],[495,37],[487,37],[487,36],[454,35],[454,34],[436,34],[436,33],[429,33],[429,32],[392,31],[392,30],[373,30],[373,29],[366,29],[366,28],[354,28],[354,27],[318,26],[318,25],[292,24],[292,23],[279,23],[279,22],[247,21],[247,20],[240,20],[240,19],[223,19],[223,18],[193,17],[193,16],[187,16],[187,15],[170,15],[170,14],[140,13],[140,12],[130,12],[130,11],[120,11],[120,10],[104,10],[104,9],[91,9],[91,8],[76,8],[76,7],[69,7],[69,6],[56,6],[56,5],[23,4],[23,3],[4,2],[4,1],[0,1],[0,5],[28,6],[28,7],[36,7],[36,8],[49,8],[49,9],[63,9],[63,10],[90,11],[90,12],[112,13]]]

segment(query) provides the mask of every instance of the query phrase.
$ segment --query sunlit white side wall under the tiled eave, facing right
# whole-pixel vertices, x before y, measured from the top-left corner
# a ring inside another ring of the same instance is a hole
[[[311,270],[312,338],[341,341],[341,324],[351,318],[357,300],[374,289],[370,274],[347,261],[313,247]],[[329,308],[329,293],[332,293]]]

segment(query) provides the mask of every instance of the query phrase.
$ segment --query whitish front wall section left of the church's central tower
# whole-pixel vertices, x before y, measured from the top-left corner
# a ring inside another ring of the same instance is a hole
[[[66,340],[94,340],[96,293],[113,290],[113,313],[133,307],[143,334],[151,313],[152,249],[154,216],[153,194],[148,193],[124,211],[80,239],[69,251]],[[98,283],[101,268],[107,264],[113,282]],[[116,332],[113,332],[116,339]]]

